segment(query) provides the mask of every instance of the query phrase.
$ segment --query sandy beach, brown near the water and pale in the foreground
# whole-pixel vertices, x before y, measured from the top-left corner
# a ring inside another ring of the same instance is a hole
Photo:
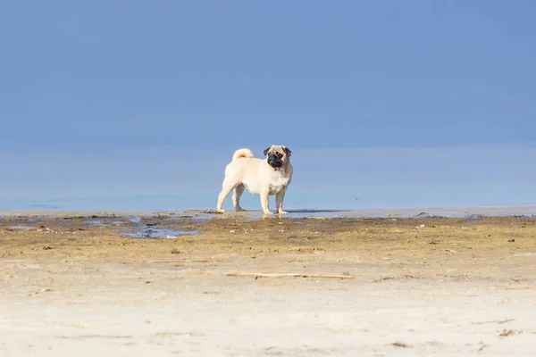
[[[536,355],[532,217],[198,217],[4,214],[0,356]]]

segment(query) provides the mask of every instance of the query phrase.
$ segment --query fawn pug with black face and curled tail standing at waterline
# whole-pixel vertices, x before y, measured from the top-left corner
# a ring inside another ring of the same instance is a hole
[[[261,196],[261,206],[265,215],[270,215],[268,196],[275,195],[279,214],[283,211],[283,198],[292,179],[290,149],[283,145],[272,145],[264,150],[264,159],[255,158],[251,150],[244,148],[235,151],[232,161],[225,167],[222,192],[218,196],[216,210],[225,212],[222,204],[234,190],[232,204],[237,212],[245,211],[240,207],[240,196],[244,190]]]

